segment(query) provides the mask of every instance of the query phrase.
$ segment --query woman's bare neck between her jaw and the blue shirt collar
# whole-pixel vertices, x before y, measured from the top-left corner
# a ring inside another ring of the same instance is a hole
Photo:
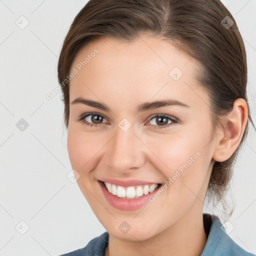
[[[207,241],[202,209],[197,214],[191,213],[194,212],[187,212],[172,226],[146,240],[127,241],[109,234],[105,256],[199,256]]]

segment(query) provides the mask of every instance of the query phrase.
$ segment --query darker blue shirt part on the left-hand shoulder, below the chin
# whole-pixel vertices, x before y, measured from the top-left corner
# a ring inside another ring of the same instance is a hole
[[[60,256],[104,256],[107,243],[108,232],[104,232],[100,236],[90,240],[85,247],[62,254]]]

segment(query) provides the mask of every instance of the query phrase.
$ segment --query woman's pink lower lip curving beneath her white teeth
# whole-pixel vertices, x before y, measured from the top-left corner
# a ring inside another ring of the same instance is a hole
[[[160,188],[160,186],[158,186],[152,192],[150,192],[148,194],[141,195],[138,198],[123,199],[123,198],[117,197],[117,196],[109,193],[102,181],[99,181],[99,186],[101,187],[102,192],[103,192],[104,196],[106,197],[107,201],[113,207],[115,207],[116,209],[119,209],[119,210],[135,210],[135,209],[141,208],[142,206],[144,206],[146,203],[149,202],[149,197]]]

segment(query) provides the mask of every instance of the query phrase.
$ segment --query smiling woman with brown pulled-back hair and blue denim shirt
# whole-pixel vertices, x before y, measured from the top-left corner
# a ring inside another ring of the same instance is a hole
[[[107,231],[65,255],[252,255],[202,213],[253,124],[246,79],[219,0],[90,0],[58,80],[70,162]]]

